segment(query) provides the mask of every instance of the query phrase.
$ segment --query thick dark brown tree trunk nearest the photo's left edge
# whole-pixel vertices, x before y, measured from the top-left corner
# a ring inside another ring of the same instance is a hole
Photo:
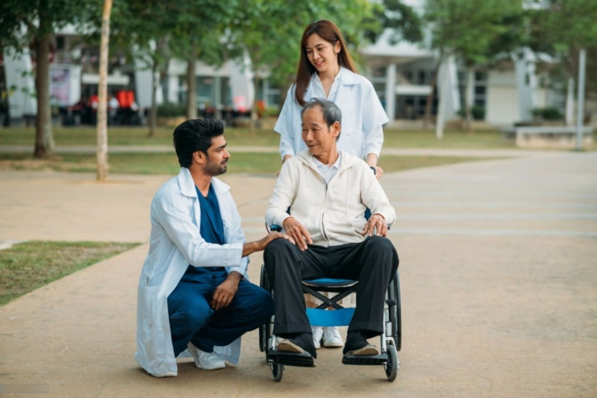
[[[34,158],[47,158],[54,153],[54,137],[52,137],[52,117],[49,108],[49,40],[51,34],[48,24],[50,19],[39,21],[40,36],[34,40],[37,58],[35,73],[35,89],[37,91],[37,117],[35,122]]]

